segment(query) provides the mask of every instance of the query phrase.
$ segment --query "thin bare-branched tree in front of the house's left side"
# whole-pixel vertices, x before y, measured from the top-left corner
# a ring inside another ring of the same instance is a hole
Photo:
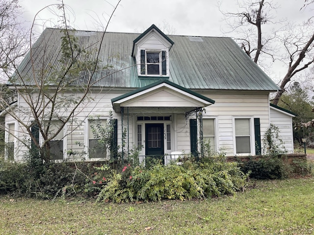
[[[84,47],[79,44],[75,35],[76,31],[68,25],[66,11],[69,7],[63,1],[60,4],[49,5],[48,8],[53,8],[50,10],[51,12],[59,12],[56,16],[61,19],[60,25],[58,25],[58,34],[43,33],[38,38],[40,43],[37,45],[36,43],[32,45],[32,40],[30,40],[31,46],[27,55],[30,57],[31,63],[30,73],[21,73],[16,64],[10,60],[15,74],[10,77],[9,82],[12,84],[11,87],[18,92],[24,105],[11,106],[6,109],[6,112],[19,123],[20,131],[25,133],[16,138],[28,149],[35,146],[38,151],[37,156],[46,163],[52,160],[50,155],[52,140],[62,132],[66,123],[71,125],[69,128],[71,133],[76,126],[83,122],[83,120],[78,120],[79,123],[74,124],[77,121],[78,113],[84,110],[89,99],[93,98],[90,89],[99,81],[95,80],[94,74],[110,68],[110,65],[101,63],[100,48],[104,44],[106,27],[120,1],[117,0],[117,4],[112,6],[111,15],[109,14],[109,19],[104,26],[104,32],[98,34],[97,41]],[[34,22],[35,19],[36,16]],[[33,35],[32,31],[33,28],[30,36]],[[59,53],[53,53],[54,42],[61,44]],[[47,62],[47,58],[57,54],[59,54],[58,60],[52,66]],[[104,79],[108,72],[104,72],[104,74],[99,79]],[[5,100],[0,101],[2,107],[8,105]],[[40,133],[42,141],[39,141],[38,133]],[[25,136],[29,138],[24,139]]]

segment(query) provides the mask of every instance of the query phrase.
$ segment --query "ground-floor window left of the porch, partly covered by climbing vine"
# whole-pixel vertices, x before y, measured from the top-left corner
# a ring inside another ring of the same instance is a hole
[[[106,143],[102,143],[101,133],[105,130],[105,119],[88,120],[88,156],[89,158],[105,158]]]

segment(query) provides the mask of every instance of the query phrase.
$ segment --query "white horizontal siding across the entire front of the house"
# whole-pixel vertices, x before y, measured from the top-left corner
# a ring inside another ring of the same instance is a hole
[[[171,151],[181,151],[184,153],[190,153],[190,128],[189,128],[189,119],[185,117],[185,114],[182,112],[178,113],[180,110],[180,103],[182,100],[189,100],[187,97],[182,95],[176,96],[173,93],[168,93],[167,91],[159,91],[151,95],[147,95],[145,99],[151,105],[155,107],[160,107],[159,104],[168,103],[167,100],[171,100],[172,105],[176,104],[178,101],[178,106],[170,107],[169,109],[164,109],[158,111],[155,109],[153,112],[149,107],[144,107],[143,103],[138,103],[140,106],[138,109],[133,108],[133,113],[128,114],[128,109],[124,109],[123,115],[123,125],[122,125],[122,116],[121,113],[116,113],[113,111],[111,99],[119,95],[125,94],[127,91],[118,91],[118,90],[102,90],[101,92],[94,91],[93,95],[90,95],[93,99],[89,102],[81,104],[77,112],[74,115],[74,119],[71,124],[67,124],[67,143],[66,149],[72,149],[77,153],[82,153],[84,151],[84,145],[87,146],[85,134],[88,131],[86,129],[86,121],[89,116],[100,116],[102,118],[108,119],[109,112],[112,111],[113,118],[118,120],[118,145],[122,145],[122,132],[123,129],[127,129],[125,152],[127,148],[131,149],[136,143],[136,130],[137,130],[137,116],[171,116],[171,131],[172,133],[172,149]],[[197,91],[196,91],[197,92]],[[282,133],[283,141],[286,143],[286,148],[289,151],[293,151],[293,141],[292,141],[292,128],[291,128],[291,117],[285,115],[282,112],[278,112],[274,109],[271,109],[269,115],[269,101],[267,93],[245,93],[245,92],[225,92],[224,94],[218,94],[217,92],[199,92],[202,95],[205,95],[213,100],[215,103],[206,107],[206,112],[203,113],[203,118],[215,118],[216,121],[216,144],[217,149],[226,152],[227,156],[235,155],[235,133],[234,133],[234,119],[235,118],[251,118],[253,123],[254,118],[260,118],[261,123],[261,141],[263,135],[267,128],[269,127],[269,117],[271,116],[271,122],[279,126]],[[79,97],[80,94],[77,94]],[[136,102],[144,102],[145,99],[140,97]],[[190,100],[191,101],[191,100]],[[195,102],[195,100],[193,101]],[[20,99],[19,104],[26,107],[26,103]],[[186,102],[186,106],[188,102]],[[132,105],[130,105],[132,106]],[[174,105],[175,106],[175,105]],[[162,107],[162,105],[161,105]],[[178,108],[179,107],[179,108]],[[67,114],[66,109],[61,109],[59,114]],[[31,116],[27,115],[27,112],[24,112],[23,115],[20,115],[25,121],[32,121]],[[189,117],[195,118],[195,117]],[[8,116],[6,121],[8,121]],[[143,122],[144,123],[144,122]],[[165,123],[165,122],[164,122]],[[19,127],[19,138],[21,140],[25,139],[27,136],[23,128]],[[252,126],[254,128],[254,125]],[[254,132],[253,132],[254,133]],[[144,135],[144,133],[143,133]],[[252,135],[254,142],[254,135]],[[144,139],[143,139],[144,140]],[[81,146],[78,145],[82,143]],[[143,145],[145,145],[143,143]],[[253,144],[254,145],[254,144]],[[23,154],[26,153],[27,148],[20,144],[19,149],[22,150],[19,152],[18,160],[21,160]],[[86,149],[85,149],[86,150]],[[121,151],[121,148],[119,149]],[[170,151],[170,150],[169,150]],[[167,152],[165,150],[165,152]],[[145,153],[143,150],[142,153]],[[255,154],[255,146],[252,146],[252,155]],[[70,156],[67,156],[70,158]],[[76,155],[75,158],[80,159],[84,157],[83,155]],[[72,156],[71,156],[72,158]]]

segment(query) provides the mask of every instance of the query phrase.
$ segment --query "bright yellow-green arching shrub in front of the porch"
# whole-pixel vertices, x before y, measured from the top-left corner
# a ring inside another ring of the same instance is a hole
[[[237,163],[221,157],[183,165],[125,165],[121,172],[113,170],[98,195],[97,201],[134,202],[162,199],[186,200],[234,194],[243,188],[247,175]]]

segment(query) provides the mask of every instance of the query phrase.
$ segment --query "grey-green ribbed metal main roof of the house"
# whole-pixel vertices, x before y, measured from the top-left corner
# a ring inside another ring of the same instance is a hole
[[[154,28],[152,25],[151,27]],[[70,31],[82,48],[98,49],[103,32]],[[160,78],[139,78],[131,56],[134,40],[142,34],[106,32],[100,48],[100,65],[110,68],[94,74],[94,86],[141,88]],[[35,72],[59,68],[61,29],[46,28],[32,48]],[[174,42],[169,51],[169,81],[187,89],[277,91],[278,86],[241,50],[231,38],[167,36]],[[91,53],[96,56],[96,53]],[[30,54],[19,66],[19,73],[34,84]],[[43,64],[45,63],[45,64]],[[38,69],[36,69],[38,68]],[[53,74],[53,71],[51,72]],[[82,76],[73,85],[80,85]]]

